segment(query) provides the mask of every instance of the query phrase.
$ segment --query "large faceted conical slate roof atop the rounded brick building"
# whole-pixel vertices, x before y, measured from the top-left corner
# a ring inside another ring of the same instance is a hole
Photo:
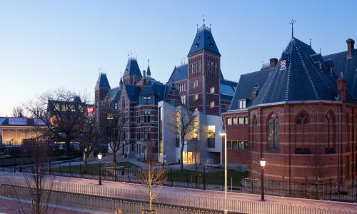
[[[325,66],[320,69],[319,62],[315,63],[316,58],[318,56],[311,46],[291,38],[253,105],[283,101],[336,101],[337,76]],[[286,68],[283,68],[284,60]],[[348,91],[346,101],[355,103]]]

